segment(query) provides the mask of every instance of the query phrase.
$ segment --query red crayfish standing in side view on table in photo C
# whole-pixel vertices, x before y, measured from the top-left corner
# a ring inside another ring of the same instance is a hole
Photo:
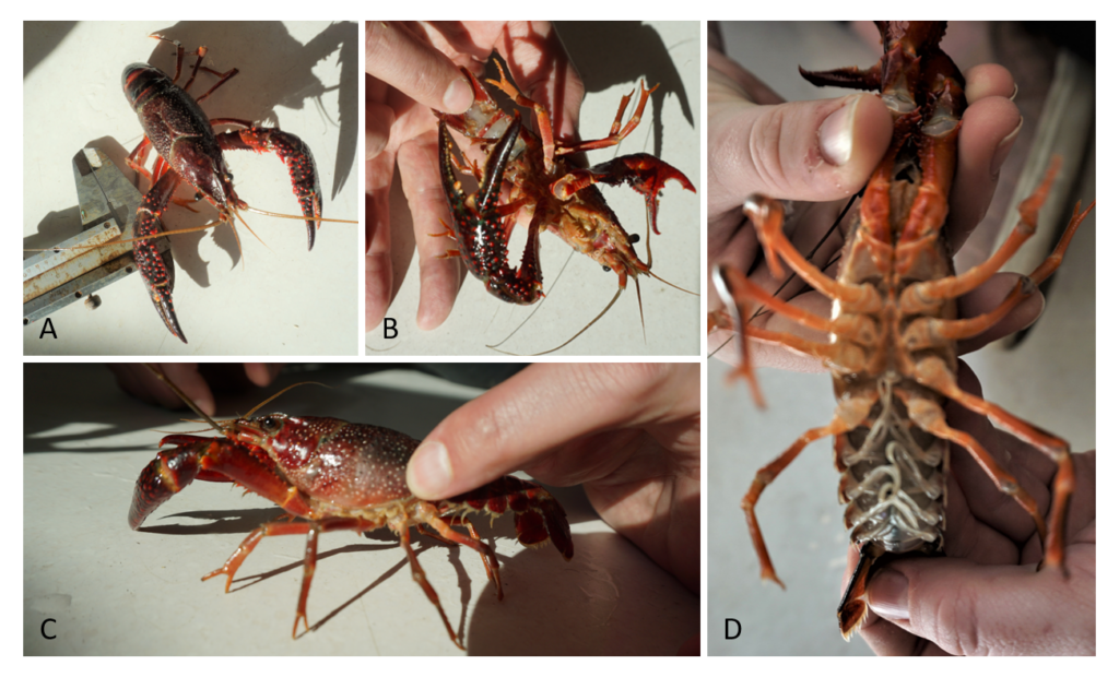
[[[290,388],[261,403],[244,417],[218,424],[198,410],[161,372],[156,368],[152,372],[203,416],[219,436],[172,434],[163,438],[160,446],[175,444],[175,449],[159,452],[140,473],[129,510],[129,526],[140,528],[160,505],[195,479],[235,482],[274,501],[289,516],[253,529],[226,563],[203,576],[203,581],[225,575],[225,590],[229,592],[237,570],[262,538],[305,534],[303,582],[292,638],[299,631],[300,620],[309,630],[307,598],[314,575],[321,533],[372,532],[388,527],[401,539],[413,579],[439,610],[451,641],[460,649],[463,648],[462,642],[451,628],[439,594],[412,551],[412,527],[444,543],[466,545],[476,551],[482,558],[487,576],[497,589],[498,600],[504,596],[500,564],[493,549],[478,535],[468,514],[480,511],[496,517],[513,510],[517,538],[523,545],[543,546],[551,540],[565,560],[571,560],[574,554],[567,515],[539,485],[502,477],[449,499],[421,500],[412,496],[404,479],[408,459],[420,443],[403,433],[318,416],[271,414],[251,417],[261,406]],[[466,526],[469,534],[451,528],[453,526]]]

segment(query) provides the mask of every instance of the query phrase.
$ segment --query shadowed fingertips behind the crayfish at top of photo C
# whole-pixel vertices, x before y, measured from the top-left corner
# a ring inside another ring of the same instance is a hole
[[[247,379],[253,385],[264,387],[275,380],[283,364],[214,364],[199,368],[196,363],[164,363],[158,365],[163,374],[194,401],[198,408],[213,416],[216,413],[214,389],[229,389],[243,385]],[[148,404],[157,404],[170,410],[186,408],[187,404],[161,382],[143,364],[111,364],[109,369],[116,376],[116,385],[122,391]]]

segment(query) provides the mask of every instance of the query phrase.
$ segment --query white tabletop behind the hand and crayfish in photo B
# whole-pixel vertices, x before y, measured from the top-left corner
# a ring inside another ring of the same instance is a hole
[[[652,21],[580,23],[560,22],[576,70],[587,84],[580,113],[583,139],[605,135],[618,112],[621,97],[645,78],[660,90],[649,100],[640,126],[619,147],[587,153],[593,166],[611,158],[637,152],[657,154],[687,176],[698,190],[699,162],[699,23]],[[630,104],[632,110],[633,103]],[[657,138],[660,145],[657,144]],[[629,187],[604,187],[603,195],[622,226],[638,233],[636,246],[646,257],[645,201]],[[414,242],[411,217],[399,189],[397,175],[393,196],[393,237]],[[660,235],[651,235],[652,271],[686,290],[698,292],[699,195],[686,191],[676,181],[667,184],[657,217]],[[510,252],[514,263],[524,251],[525,229],[517,228]],[[419,258],[414,245],[403,258],[394,258],[394,275],[403,275],[399,292],[388,309],[399,335],[385,339],[380,328],[366,335],[367,354],[373,355],[480,355],[497,356],[488,349],[505,339],[536,311],[502,350],[526,355],[555,348],[573,337],[606,307],[618,290],[618,276],[573,251],[549,233],[540,235],[540,269],[547,298],[529,307],[514,305],[490,295],[473,276],[467,275],[451,316],[432,331],[415,326],[420,304]],[[394,247],[399,251],[402,247]],[[568,261],[570,258],[570,261]],[[560,271],[566,270],[563,274]],[[665,285],[653,278],[640,279],[645,308],[645,335],[637,293],[630,280],[614,307],[586,333],[553,355],[698,355],[700,337],[699,298]],[[555,286],[553,286],[555,283]]]

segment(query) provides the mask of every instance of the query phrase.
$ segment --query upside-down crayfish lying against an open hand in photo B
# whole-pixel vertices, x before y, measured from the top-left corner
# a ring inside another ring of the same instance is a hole
[[[641,84],[637,107],[624,126],[622,117],[632,92],[622,97],[608,137],[594,141],[568,142],[555,137],[547,110],[521,94],[506,77],[501,64],[497,59],[495,64],[500,79],[487,82],[517,105],[534,111],[539,135],[521,124],[519,112],[511,116],[502,112],[481,83],[463,68],[473,85],[474,105],[462,115],[436,113],[440,119],[440,169],[452,215],[451,225],[446,226],[445,233],[439,235],[451,237],[459,245],[458,250],[448,252],[446,256],[461,257],[467,269],[486,284],[487,291],[502,301],[535,303],[544,295],[538,260],[539,233],[546,228],[575,251],[593,258],[603,270],[618,274],[618,292],[602,313],[618,300],[631,276],[638,285],[639,304],[639,274],[651,275],[676,286],[650,270],[652,254],[648,231],[646,244],[649,247],[649,263],[645,263],[633,248],[633,243],[639,237],[626,232],[595,184],[628,184],[640,192],[646,201],[648,228],[659,235],[657,207],[660,192],[669,180],[676,180],[685,189],[695,192],[695,187],[687,177],[648,153],[621,156],[591,169],[574,167],[568,160],[571,153],[620,143],[640,124],[649,94],[657,87],[647,90]],[[454,142],[449,129],[463,134],[472,144],[488,153],[485,167],[464,161],[468,167],[463,168],[454,157]],[[477,179],[476,195],[466,194],[457,177],[457,169],[469,171]],[[510,187],[508,201],[500,204],[499,198],[507,185]],[[516,215],[523,209],[530,216],[530,223],[520,265],[515,270],[509,265],[508,243]],[[590,325],[583,331],[587,327]],[[577,337],[575,335],[567,342]]]

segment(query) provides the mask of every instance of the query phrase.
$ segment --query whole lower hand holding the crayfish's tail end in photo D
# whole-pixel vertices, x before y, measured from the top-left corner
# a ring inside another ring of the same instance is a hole
[[[979,394],[963,364],[959,380]],[[1047,455],[959,405],[949,403],[946,414],[1047,511],[1056,473]],[[1060,571],[1036,571],[1043,553],[1033,520],[966,451],[953,446],[951,454],[947,557],[902,558],[880,571],[867,589],[872,613],[863,638],[876,654],[890,656],[1094,655],[1096,452],[1073,454],[1068,579]],[[854,563],[849,554],[845,581]]]

